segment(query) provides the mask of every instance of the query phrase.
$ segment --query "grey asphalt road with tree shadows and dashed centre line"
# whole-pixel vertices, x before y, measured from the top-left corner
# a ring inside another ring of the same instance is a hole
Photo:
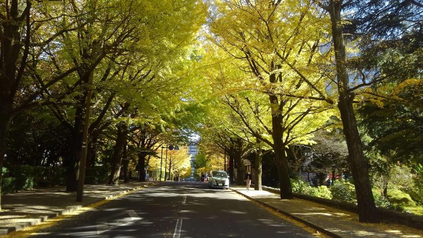
[[[164,182],[105,203],[36,237],[313,237],[230,190]]]

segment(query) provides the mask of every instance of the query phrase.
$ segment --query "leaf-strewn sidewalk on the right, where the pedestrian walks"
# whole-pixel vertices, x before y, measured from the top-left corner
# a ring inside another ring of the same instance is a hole
[[[279,195],[253,188],[231,190],[334,237],[423,237],[423,230],[396,224],[366,224],[358,215],[303,199],[280,199]]]

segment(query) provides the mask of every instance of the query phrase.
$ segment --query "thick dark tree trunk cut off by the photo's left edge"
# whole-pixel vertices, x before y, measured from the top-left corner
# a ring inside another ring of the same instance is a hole
[[[0,194],[9,126],[15,113],[13,105],[16,102],[17,92],[21,90],[20,83],[27,68],[32,7],[31,1],[26,1],[26,6],[17,0],[3,3],[0,26]],[[3,14],[3,10],[7,14]]]

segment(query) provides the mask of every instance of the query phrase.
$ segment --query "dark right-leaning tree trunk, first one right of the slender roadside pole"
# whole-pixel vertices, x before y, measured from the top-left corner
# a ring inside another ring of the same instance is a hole
[[[111,166],[111,173],[109,178],[109,184],[118,184],[119,183],[119,175],[120,169],[122,166],[122,155],[123,155],[123,148],[125,146],[125,142],[127,139],[128,129],[125,122],[119,122],[117,125],[117,137],[116,137],[116,144],[115,149],[113,152],[112,157],[112,166]]]

